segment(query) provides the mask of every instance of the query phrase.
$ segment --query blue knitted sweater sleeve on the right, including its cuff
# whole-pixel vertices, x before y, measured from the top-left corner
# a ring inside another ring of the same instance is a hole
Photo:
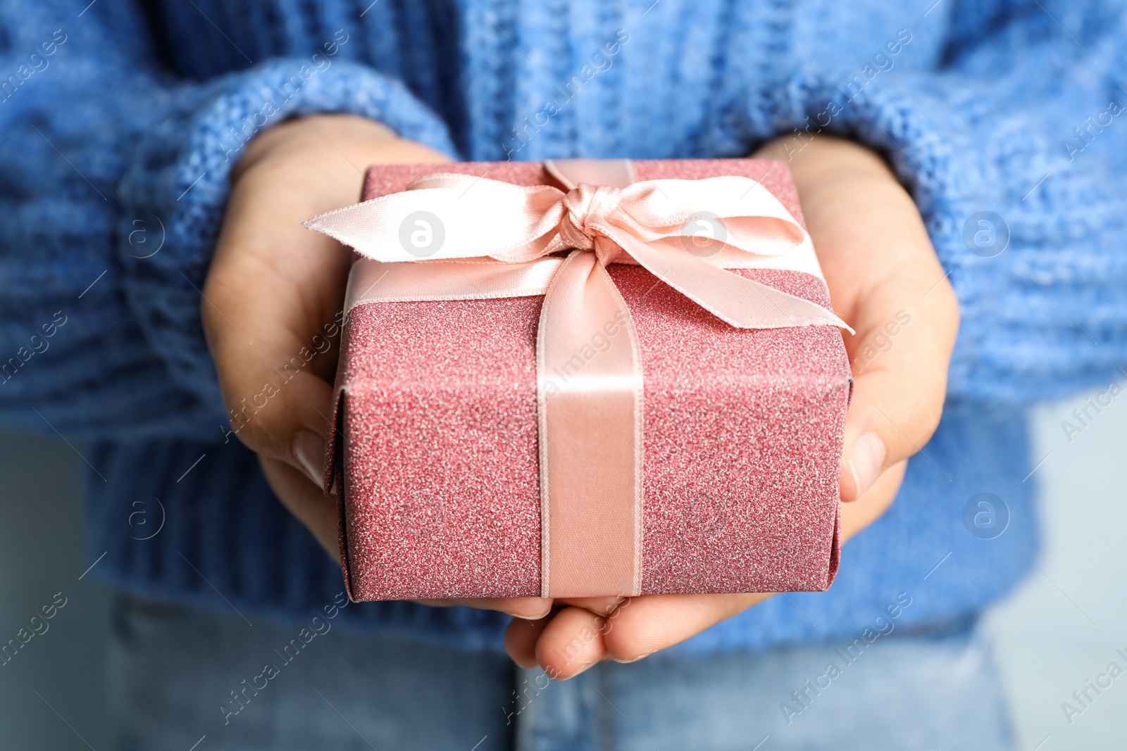
[[[825,131],[864,143],[912,193],[962,313],[951,396],[1028,403],[1125,375],[1118,5],[935,3],[937,17],[920,19],[947,14],[934,65],[896,64],[919,54],[905,28],[867,64],[811,64],[751,107],[766,136]]]

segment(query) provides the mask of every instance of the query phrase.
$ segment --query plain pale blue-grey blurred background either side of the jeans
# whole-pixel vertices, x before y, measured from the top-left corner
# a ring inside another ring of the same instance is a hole
[[[1127,748],[1127,676],[1099,695],[1088,689],[1086,708],[1072,696],[1109,663],[1127,668],[1116,654],[1127,654],[1127,400],[1070,440],[1062,421],[1086,396],[1035,411],[1037,468],[1028,482],[1040,491],[1045,545],[1032,573],[984,623],[1021,751]],[[3,750],[106,748],[109,592],[88,573],[97,553],[81,534],[82,466],[57,437],[0,432],[0,643],[65,598],[47,631],[0,667]],[[1071,722],[1065,701],[1082,709]]]

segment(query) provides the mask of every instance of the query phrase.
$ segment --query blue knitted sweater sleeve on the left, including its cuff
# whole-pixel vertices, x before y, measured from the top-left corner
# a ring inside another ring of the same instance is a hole
[[[130,2],[0,8],[0,421],[80,437],[218,438],[225,423],[199,289],[228,175],[264,128],[378,119],[454,154],[400,82],[304,57],[187,82]]]

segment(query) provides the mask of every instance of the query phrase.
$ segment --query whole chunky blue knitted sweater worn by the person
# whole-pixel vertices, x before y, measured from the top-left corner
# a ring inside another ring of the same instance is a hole
[[[736,157],[820,128],[912,191],[964,314],[942,424],[828,592],[683,650],[852,636],[900,592],[902,624],[979,610],[1035,554],[1026,409],[1127,363],[1127,23],[1110,0],[88,2],[0,6],[0,419],[81,452],[89,560],[115,585],[301,619],[341,590],[227,439],[199,323],[232,163],[309,113],[474,160]],[[979,492],[1010,510],[993,539],[964,524]],[[343,614],[467,646],[505,625]]]

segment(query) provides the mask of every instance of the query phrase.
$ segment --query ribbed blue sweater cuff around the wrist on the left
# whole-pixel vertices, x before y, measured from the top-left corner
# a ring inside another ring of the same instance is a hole
[[[349,62],[314,69],[308,59],[273,60],[172,88],[166,99],[168,114],[141,137],[118,191],[125,294],[169,376],[213,404],[224,424],[199,303],[230,170],[247,143],[292,117],[347,113],[451,155],[456,149],[445,124],[402,83]]]

